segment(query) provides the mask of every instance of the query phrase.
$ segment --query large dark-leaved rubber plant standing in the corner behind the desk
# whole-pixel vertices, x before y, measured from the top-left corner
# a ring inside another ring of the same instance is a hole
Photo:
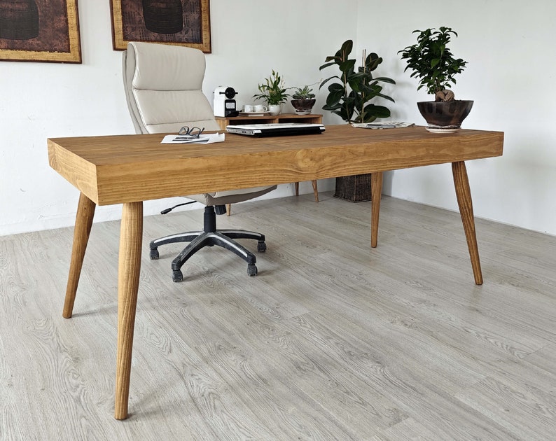
[[[340,69],[339,76],[331,76],[319,86],[320,88],[331,80],[337,80],[328,85],[328,97],[323,109],[335,113],[348,123],[370,123],[377,118],[388,118],[390,111],[387,107],[377,106],[370,101],[382,97],[394,102],[394,99],[382,93],[379,83],[396,82],[387,77],[373,78],[373,71],[382,63],[382,58],[375,52],[366,56],[366,51],[363,50],[362,66],[356,69],[356,60],[349,58],[352,49],[353,41],[345,41],[340,50],[335,55],[326,57],[325,64],[320,67],[322,70],[335,65]]]

